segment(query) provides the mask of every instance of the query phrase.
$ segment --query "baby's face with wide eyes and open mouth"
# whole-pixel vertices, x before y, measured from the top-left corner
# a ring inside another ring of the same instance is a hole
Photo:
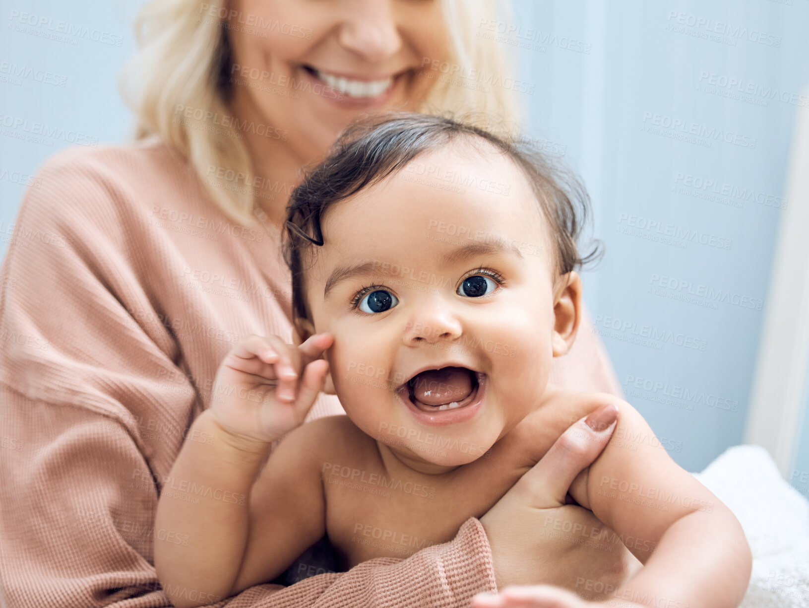
[[[322,230],[304,261],[307,302],[314,330],[334,335],[332,381],[362,431],[437,473],[536,409],[553,357],[553,258],[510,159],[431,151],[337,203]]]

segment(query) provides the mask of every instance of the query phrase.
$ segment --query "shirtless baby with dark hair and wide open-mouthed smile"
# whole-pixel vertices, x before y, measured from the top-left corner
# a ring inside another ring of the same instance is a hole
[[[344,569],[450,541],[590,412],[592,395],[548,384],[587,261],[587,195],[558,175],[527,144],[422,114],[355,125],[307,173],[286,223],[296,345],[232,349],[193,423],[214,444],[186,441],[172,468],[214,491],[159,500],[155,530],[185,539],[155,533],[176,606],[269,582],[324,534]],[[328,385],[346,415],[303,424]],[[645,564],[620,597],[736,606],[749,576],[738,521],[629,403],[599,398],[617,411],[591,424],[617,427],[569,494],[615,531],[602,542]]]

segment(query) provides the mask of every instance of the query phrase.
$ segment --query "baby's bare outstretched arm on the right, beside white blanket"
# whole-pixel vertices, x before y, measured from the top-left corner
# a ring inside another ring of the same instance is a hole
[[[678,608],[738,606],[752,568],[739,521],[671,460],[637,410],[613,400],[620,409],[616,431],[570,488],[645,564],[610,598]]]

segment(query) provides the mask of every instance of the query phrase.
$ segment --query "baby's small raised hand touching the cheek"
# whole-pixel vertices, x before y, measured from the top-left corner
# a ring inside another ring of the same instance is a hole
[[[323,389],[332,334],[315,334],[299,347],[277,336],[251,335],[222,359],[214,380],[212,414],[237,439],[270,443],[299,427]]]

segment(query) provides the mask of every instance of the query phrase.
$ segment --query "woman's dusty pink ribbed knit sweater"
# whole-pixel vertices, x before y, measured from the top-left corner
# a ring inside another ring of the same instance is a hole
[[[0,603],[171,606],[152,557],[159,492],[232,344],[291,339],[289,271],[157,138],[72,147],[36,177],[0,270]],[[552,379],[620,393],[587,319],[577,344]],[[321,395],[309,418],[341,411]],[[470,519],[409,559],[216,606],[466,606],[494,589]]]

